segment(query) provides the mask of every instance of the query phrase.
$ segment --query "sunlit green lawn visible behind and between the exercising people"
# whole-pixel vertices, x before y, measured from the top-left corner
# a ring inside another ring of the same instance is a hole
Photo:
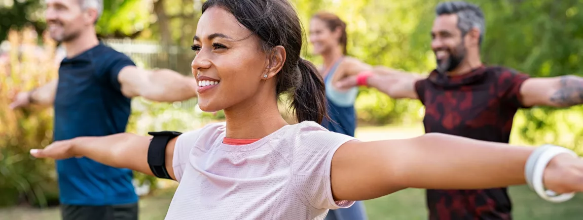
[[[361,140],[400,139],[423,134],[420,124],[409,126],[359,127],[356,136]],[[164,219],[174,188],[160,191],[154,196],[140,200],[140,219]],[[526,186],[510,187],[515,220],[580,220],[583,219],[583,194],[578,194],[566,203],[550,203],[539,198]],[[406,189],[389,196],[365,201],[370,220],[425,220],[427,210],[422,189]],[[44,210],[32,208],[0,209],[0,219],[15,220],[58,220],[58,208]]]

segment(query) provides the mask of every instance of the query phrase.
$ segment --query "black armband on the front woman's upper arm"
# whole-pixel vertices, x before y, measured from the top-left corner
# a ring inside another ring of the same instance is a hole
[[[147,150],[147,164],[157,178],[172,179],[166,169],[166,145],[180,132],[148,132],[152,137]]]

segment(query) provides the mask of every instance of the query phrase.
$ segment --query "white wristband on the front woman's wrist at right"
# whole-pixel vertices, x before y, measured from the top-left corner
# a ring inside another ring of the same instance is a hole
[[[565,193],[557,195],[552,190],[545,190],[545,186],[543,184],[543,173],[547,165],[549,164],[550,160],[556,157],[559,154],[567,153],[573,155],[574,157],[578,157],[575,152],[568,150],[567,148],[563,147],[550,147],[543,151],[539,158],[536,159],[535,166],[532,173],[532,187],[536,191],[539,196],[547,201],[553,203],[563,203],[564,201],[570,200],[575,196],[575,193]]]

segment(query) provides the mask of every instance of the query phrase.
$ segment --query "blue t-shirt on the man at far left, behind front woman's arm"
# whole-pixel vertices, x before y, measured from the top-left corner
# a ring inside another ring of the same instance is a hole
[[[125,132],[131,99],[121,93],[117,78],[125,66],[135,63],[101,42],[61,62],[54,102],[55,141]],[[56,163],[62,204],[113,205],[138,201],[129,169],[113,168],[85,157]]]

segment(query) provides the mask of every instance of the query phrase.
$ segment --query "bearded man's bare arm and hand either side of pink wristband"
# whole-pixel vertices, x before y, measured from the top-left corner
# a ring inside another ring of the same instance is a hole
[[[371,73],[366,80],[368,87],[377,88],[378,91],[391,98],[419,98],[415,91],[415,83],[417,80],[423,79],[423,76],[382,66],[373,68]],[[336,83],[336,87],[346,89],[358,86],[358,77],[356,75],[345,77]]]

